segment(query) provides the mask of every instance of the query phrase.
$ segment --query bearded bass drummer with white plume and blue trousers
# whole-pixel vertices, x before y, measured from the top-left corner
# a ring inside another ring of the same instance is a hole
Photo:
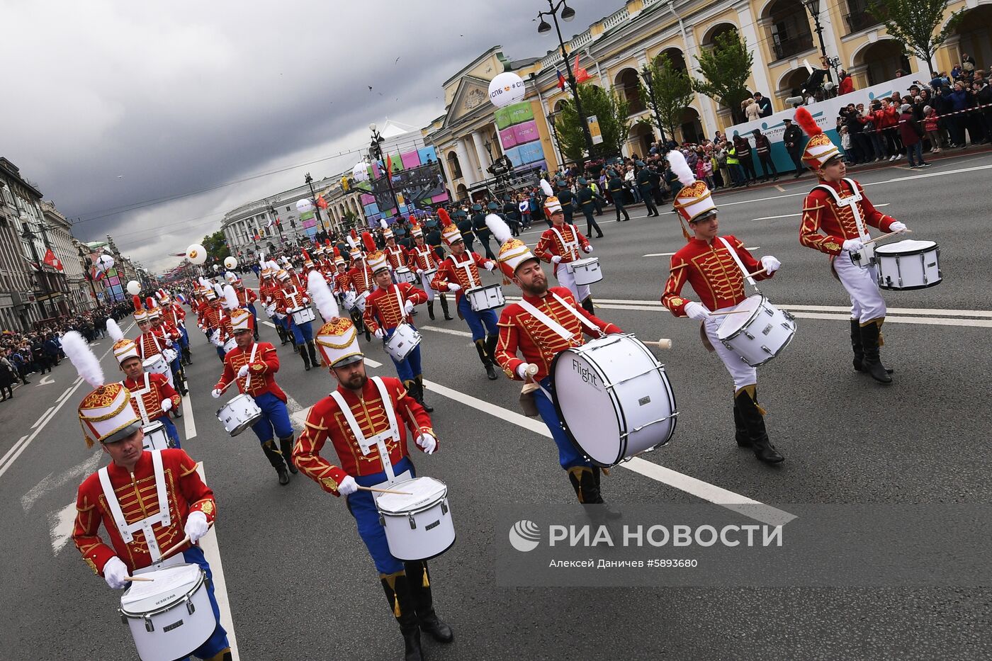
[[[506,223],[501,220],[496,222],[492,216],[487,218],[486,223],[497,240],[501,241],[500,267],[523,293],[520,303],[508,305],[500,315],[496,360],[511,379],[533,379],[540,385],[534,392],[534,401],[558,446],[558,463],[567,471],[575,496],[583,504],[603,503],[599,490],[599,466],[582,457],[561,428],[551,395],[554,389],[551,365],[555,356],[564,349],[580,346],[584,341],[583,333],[600,336],[622,331],[580,307],[564,287],[549,288],[541,260],[527,244],[512,238]],[[596,331],[592,331],[590,326]],[[517,357],[518,352],[524,359]],[[531,366],[537,369],[533,374],[528,373]]]

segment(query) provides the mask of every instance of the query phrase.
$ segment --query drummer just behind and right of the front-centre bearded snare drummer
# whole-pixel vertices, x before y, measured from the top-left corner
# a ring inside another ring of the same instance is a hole
[[[365,313],[362,315],[365,328],[382,340],[392,337],[401,324],[416,328],[414,307],[426,303],[428,295],[409,282],[394,283],[384,253],[369,253],[367,258],[376,289],[365,300]],[[396,374],[411,397],[420,402],[425,411],[433,412],[434,408],[424,403],[424,368],[421,366],[420,344],[411,349],[403,360],[397,360],[392,355],[390,359],[396,365]]]

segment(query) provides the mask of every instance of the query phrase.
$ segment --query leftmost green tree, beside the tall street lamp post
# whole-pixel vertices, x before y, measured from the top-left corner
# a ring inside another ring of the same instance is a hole
[[[609,157],[620,154],[623,144],[630,132],[630,122],[626,99],[621,98],[614,90],[605,90],[591,83],[578,85],[578,98],[582,102],[582,112],[585,117],[596,116],[599,121],[599,131],[603,141],[592,146],[590,158]],[[555,120],[555,130],[558,132],[558,146],[569,161],[580,161],[585,151],[585,136],[582,133],[581,122],[575,111],[572,99],[561,104],[561,111]]]

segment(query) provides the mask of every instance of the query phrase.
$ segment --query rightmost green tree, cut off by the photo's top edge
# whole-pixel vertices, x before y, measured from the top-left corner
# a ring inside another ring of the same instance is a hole
[[[869,0],[868,11],[897,42],[933,70],[933,54],[953,36],[964,8],[950,15],[940,32],[933,34],[943,20],[946,0]],[[927,71],[930,73],[930,71]]]

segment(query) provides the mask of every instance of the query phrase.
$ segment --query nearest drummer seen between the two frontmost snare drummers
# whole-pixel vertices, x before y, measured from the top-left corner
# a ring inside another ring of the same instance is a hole
[[[290,483],[286,471],[297,472],[290,456],[293,452],[293,423],[286,408],[286,393],[276,383],[279,356],[269,342],[256,342],[252,336],[253,319],[247,310],[235,310],[231,328],[237,346],[224,356],[224,371],[211,393],[214,399],[223,394],[227,385],[237,380],[238,390],[248,394],[262,410],[262,417],[251,429],[262,444],[262,452],[279,473],[279,483]],[[276,450],[274,438],[279,439]]]

